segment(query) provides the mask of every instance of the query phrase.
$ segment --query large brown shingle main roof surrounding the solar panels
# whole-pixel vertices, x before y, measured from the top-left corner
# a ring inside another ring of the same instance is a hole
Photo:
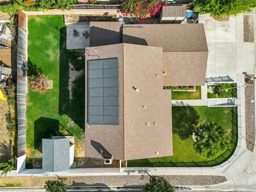
[[[87,49],[91,54],[85,53],[85,74],[88,60],[118,59],[119,124],[87,123],[86,75],[85,156],[111,154],[124,160],[171,156],[171,92],[163,90],[162,47],[115,44]],[[99,68],[98,73],[104,71]]]

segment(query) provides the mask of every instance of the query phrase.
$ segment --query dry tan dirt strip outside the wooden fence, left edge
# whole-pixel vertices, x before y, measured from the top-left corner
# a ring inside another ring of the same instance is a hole
[[[11,158],[11,141],[7,129],[7,118],[10,116],[10,111],[7,100],[0,100],[0,109],[0,163],[2,163]]]

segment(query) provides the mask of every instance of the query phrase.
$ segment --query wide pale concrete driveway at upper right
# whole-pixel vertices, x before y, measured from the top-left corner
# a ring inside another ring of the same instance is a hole
[[[209,49],[207,78],[228,75],[234,81],[243,81],[243,72],[254,74],[254,17],[254,11],[221,22],[209,14],[199,16]]]

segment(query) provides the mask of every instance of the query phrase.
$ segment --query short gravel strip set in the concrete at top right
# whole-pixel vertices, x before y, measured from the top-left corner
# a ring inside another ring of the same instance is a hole
[[[244,42],[254,41],[253,15],[244,15]]]

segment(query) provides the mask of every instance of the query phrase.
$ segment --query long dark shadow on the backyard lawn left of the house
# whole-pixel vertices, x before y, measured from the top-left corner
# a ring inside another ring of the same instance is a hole
[[[66,27],[60,29],[60,78],[59,78],[59,115],[66,114],[81,129],[85,126],[85,51],[66,49]],[[83,71],[77,76],[69,87],[70,63],[72,70]]]

